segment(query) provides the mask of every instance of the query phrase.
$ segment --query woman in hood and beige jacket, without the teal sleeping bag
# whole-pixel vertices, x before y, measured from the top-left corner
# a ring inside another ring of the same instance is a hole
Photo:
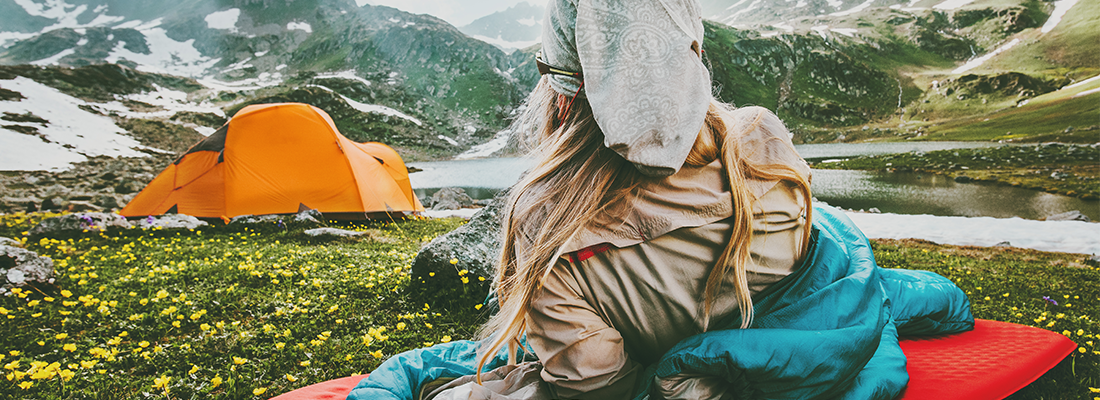
[[[552,397],[627,397],[710,321],[748,326],[804,253],[809,168],[773,114],[711,97],[698,11],[550,2],[482,363],[526,333]]]

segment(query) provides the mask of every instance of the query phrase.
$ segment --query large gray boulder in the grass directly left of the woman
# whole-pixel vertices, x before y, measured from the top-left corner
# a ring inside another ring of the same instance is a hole
[[[488,284],[495,276],[501,256],[501,219],[507,193],[477,211],[465,225],[436,237],[413,260],[414,281],[453,282],[459,270],[466,269],[472,282]],[[457,264],[451,264],[457,259]],[[435,276],[432,276],[435,273]],[[484,281],[477,279],[485,278]]]

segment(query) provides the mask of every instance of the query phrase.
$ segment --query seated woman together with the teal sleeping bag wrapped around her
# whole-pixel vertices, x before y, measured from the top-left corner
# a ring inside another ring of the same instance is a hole
[[[812,215],[782,122],[712,98],[696,1],[551,0],[543,26],[499,312],[352,398],[892,398],[894,321],[935,313],[901,300],[935,291],[946,305],[921,311],[950,312],[921,326],[972,325],[949,281],[882,271],[850,221]]]

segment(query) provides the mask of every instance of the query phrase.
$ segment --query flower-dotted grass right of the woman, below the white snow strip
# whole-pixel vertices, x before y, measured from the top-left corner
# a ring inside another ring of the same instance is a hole
[[[872,247],[880,266],[931,270],[954,281],[970,298],[975,318],[1035,326],[1077,343],[1077,352],[1010,399],[1097,396],[1090,388],[1100,386],[1100,323],[1093,320],[1100,270],[1085,256],[914,240],[878,240]]]

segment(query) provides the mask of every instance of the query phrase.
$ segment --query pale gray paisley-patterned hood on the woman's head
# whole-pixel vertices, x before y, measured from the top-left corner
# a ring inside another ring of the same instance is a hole
[[[697,0],[550,0],[542,26],[547,64],[583,74],[604,144],[646,175],[678,171],[712,99]],[[580,92],[580,79],[549,77]]]

